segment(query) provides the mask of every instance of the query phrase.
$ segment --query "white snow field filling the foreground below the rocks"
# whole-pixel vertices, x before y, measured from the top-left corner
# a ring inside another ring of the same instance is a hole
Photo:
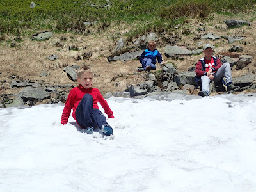
[[[0,191],[256,191],[255,94],[107,101],[115,138],[61,103],[1,108]]]

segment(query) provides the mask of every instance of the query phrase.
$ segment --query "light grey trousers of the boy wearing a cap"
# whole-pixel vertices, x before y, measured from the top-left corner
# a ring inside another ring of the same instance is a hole
[[[231,68],[229,63],[223,63],[221,67],[212,74],[214,76],[214,82],[220,81],[221,77],[225,77],[226,84],[232,83],[232,76],[231,76]],[[203,92],[209,92],[209,84],[211,82],[210,78],[208,76],[202,76],[201,77],[201,82],[202,82],[202,91]]]

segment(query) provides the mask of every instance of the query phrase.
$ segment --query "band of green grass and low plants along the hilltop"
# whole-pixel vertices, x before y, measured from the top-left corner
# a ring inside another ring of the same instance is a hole
[[[136,31],[127,36],[138,36],[148,31],[170,31],[174,24],[186,17],[207,19],[215,12],[223,15],[243,14],[255,10],[256,0],[31,0],[0,1],[0,37],[12,34],[15,38],[31,35],[31,31],[84,32],[85,21],[99,21],[97,31],[112,22],[136,24]],[[165,23],[165,24],[164,24]],[[29,32],[30,31],[30,32]]]

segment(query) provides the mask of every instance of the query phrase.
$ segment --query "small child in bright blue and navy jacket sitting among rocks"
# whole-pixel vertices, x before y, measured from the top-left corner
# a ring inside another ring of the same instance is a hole
[[[158,63],[164,63],[160,52],[156,49],[156,42],[154,40],[150,40],[148,42],[148,47],[147,49],[145,49],[145,51],[143,51],[139,60],[140,63],[142,64],[142,67],[138,68],[138,72],[141,72],[143,70],[155,70],[156,60],[158,61]]]

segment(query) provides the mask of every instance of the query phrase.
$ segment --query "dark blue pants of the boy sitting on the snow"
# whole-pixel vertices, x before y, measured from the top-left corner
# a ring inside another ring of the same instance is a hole
[[[83,129],[97,126],[102,129],[102,125],[108,124],[102,112],[99,109],[93,108],[93,98],[90,94],[84,95],[79,102],[75,113],[77,123]]]

